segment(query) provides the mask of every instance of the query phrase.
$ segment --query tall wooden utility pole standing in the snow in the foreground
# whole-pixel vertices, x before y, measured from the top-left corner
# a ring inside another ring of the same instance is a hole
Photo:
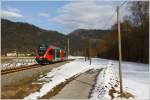
[[[120,79],[120,93],[123,93],[123,85],[122,85],[122,53],[121,53],[121,33],[120,33],[120,15],[119,15],[119,6],[117,7],[117,23],[118,23],[118,50],[119,50],[119,79]]]

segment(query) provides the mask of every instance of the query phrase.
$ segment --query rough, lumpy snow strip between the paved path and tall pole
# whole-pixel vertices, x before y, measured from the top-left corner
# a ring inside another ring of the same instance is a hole
[[[111,99],[108,95],[111,87],[114,87],[117,84],[118,76],[116,75],[117,70],[113,68],[112,62],[109,62],[107,67],[105,67],[97,77],[96,85],[92,91],[91,98],[92,100],[107,100]]]

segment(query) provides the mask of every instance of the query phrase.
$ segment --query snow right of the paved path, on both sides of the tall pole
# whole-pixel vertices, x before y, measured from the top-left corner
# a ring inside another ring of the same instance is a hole
[[[129,97],[129,99],[150,100],[149,65],[134,62],[123,62],[122,69],[124,92],[132,94],[130,95],[131,97]],[[109,90],[112,90],[112,87],[116,91],[120,91],[118,78],[118,62],[113,60],[111,60],[111,64],[104,68],[97,77],[97,84],[92,91],[91,99],[111,99]],[[120,98],[117,97],[119,93],[114,93],[113,95],[115,100],[120,100]],[[123,98],[123,100],[124,99],[125,98]]]

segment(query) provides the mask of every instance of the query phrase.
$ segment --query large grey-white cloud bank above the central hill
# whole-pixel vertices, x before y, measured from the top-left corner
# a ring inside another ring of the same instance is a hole
[[[102,29],[114,11],[115,6],[107,3],[102,5],[95,1],[71,2],[58,10],[58,16],[49,20],[72,30],[77,28]],[[108,27],[114,22],[115,17],[109,22]]]

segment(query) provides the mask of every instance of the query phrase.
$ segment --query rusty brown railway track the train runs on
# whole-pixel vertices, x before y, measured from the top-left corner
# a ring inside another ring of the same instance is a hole
[[[66,60],[66,61],[72,61],[72,60],[73,59]],[[52,64],[54,63],[60,63],[60,62],[53,62]],[[19,72],[19,71],[28,70],[28,69],[33,69],[33,68],[38,68],[38,67],[44,67],[44,66],[45,65],[34,64],[34,65],[29,65],[29,66],[22,66],[22,67],[17,67],[17,68],[12,68],[12,69],[1,70],[1,75]]]

